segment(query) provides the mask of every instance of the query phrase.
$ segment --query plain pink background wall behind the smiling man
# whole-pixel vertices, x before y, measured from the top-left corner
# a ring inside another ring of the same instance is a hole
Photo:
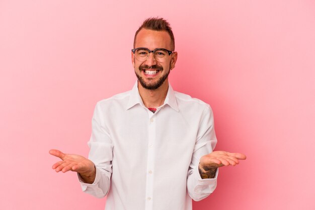
[[[104,209],[49,149],[87,156],[97,101],[131,89],[133,36],[173,26],[174,89],[214,111],[220,170],[194,209],[315,209],[314,1],[0,1],[0,209]]]

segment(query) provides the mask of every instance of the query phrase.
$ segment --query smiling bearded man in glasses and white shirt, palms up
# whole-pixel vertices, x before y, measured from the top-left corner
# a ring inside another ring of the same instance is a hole
[[[78,173],[83,191],[107,195],[115,210],[192,209],[192,199],[216,187],[218,167],[246,156],[215,151],[208,104],[173,91],[168,81],[178,53],[167,21],[149,18],[137,30],[131,91],[97,103],[89,159],[51,150],[56,172]]]

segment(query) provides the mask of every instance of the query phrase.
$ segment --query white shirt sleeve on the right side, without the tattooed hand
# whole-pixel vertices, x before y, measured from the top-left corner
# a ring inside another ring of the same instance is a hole
[[[218,169],[213,179],[201,179],[198,166],[200,158],[211,153],[217,143],[214,132],[213,113],[208,105],[204,110],[199,123],[196,144],[187,174],[187,190],[195,201],[209,196],[216,188]]]

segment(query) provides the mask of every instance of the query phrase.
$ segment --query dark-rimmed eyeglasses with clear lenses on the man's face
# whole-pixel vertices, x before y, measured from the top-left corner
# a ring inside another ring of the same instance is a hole
[[[153,52],[154,59],[157,62],[164,62],[166,61],[167,57],[170,56],[173,51],[164,49],[164,48],[156,48],[154,50],[149,50],[148,48],[145,47],[139,47],[131,50],[135,56],[135,58],[139,61],[144,61],[146,60],[150,52]]]

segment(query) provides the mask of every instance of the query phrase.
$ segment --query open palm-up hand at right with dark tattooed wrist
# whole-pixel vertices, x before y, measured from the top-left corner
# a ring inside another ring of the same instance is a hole
[[[216,169],[222,166],[235,166],[239,160],[245,160],[242,153],[229,153],[225,151],[214,151],[200,158],[199,174],[202,179],[214,178]]]

